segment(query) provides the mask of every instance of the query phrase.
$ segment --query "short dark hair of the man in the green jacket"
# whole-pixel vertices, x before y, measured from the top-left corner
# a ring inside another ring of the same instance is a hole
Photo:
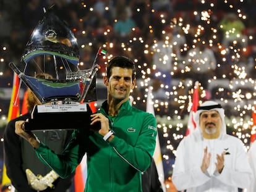
[[[111,70],[113,69],[113,67],[132,69],[132,80],[136,78],[135,64],[128,57],[116,56],[108,62],[108,65],[106,67],[106,75],[108,78],[110,78],[111,76]]]

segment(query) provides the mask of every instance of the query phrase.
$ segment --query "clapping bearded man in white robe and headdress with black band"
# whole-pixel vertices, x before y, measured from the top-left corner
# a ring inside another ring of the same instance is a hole
[[[224,109],[214,101],[200,105],[197,128],[177,147],[173,183],[177,190],[238,191],[252,181],[244,144],[226,133]]]

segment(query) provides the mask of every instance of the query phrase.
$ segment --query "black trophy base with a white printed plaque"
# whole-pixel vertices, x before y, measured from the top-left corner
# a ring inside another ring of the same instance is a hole
[[[38,105],[25,122],[25,131],[90,128],[91,114],[88,104]]]

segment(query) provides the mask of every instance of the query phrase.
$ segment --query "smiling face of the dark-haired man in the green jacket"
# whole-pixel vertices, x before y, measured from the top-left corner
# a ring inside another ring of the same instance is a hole
[[[104,77],[104,83],[108,87],[108,97],[115,103],[125,102],[129,99],[130,91],[135,86],[135,79],[132,80],[132,69],[113,67],[111,76]],[[109,99],[108,98],[108,99]]]

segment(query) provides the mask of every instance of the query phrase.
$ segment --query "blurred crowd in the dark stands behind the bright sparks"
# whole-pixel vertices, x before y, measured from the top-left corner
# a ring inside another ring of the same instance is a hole
[[[9,62],[20,62],[43,17],[43,7],[53,4],[77,38],[80,69],[90,68],[104,45],[108,56],[134,59],[137,78],[161,80],[164,91],[172,91],[177,80],[187,79],[199,80],[207,89],[210,79],[239,78],[236,67],[247,73],[245,78],[255,78],[254,0],[4,0],[0,2],[1,78],[12,77]],[[102,75],[105,63],[100,65]]]

